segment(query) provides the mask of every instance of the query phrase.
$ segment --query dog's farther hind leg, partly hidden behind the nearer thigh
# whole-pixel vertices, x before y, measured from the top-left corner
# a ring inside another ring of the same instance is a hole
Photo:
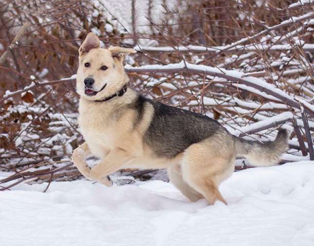
[[[204,198],[204,196],[190,187],[186,181],[183,180],[181,168],[179,165],[172,165],[168,169],[168,176],[171,183],[178,188],[183,195],[185,195],[190,201],[197,201]]]

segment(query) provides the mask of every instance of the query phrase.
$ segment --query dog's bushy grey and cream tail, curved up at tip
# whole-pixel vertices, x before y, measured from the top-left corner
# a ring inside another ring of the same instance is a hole
[[[278,164],[280,157],[288,149],[288,132],[280,129],[273,142],[250,141],[235,137],[237,157],[246,157],[254,167],[268,167]]]

